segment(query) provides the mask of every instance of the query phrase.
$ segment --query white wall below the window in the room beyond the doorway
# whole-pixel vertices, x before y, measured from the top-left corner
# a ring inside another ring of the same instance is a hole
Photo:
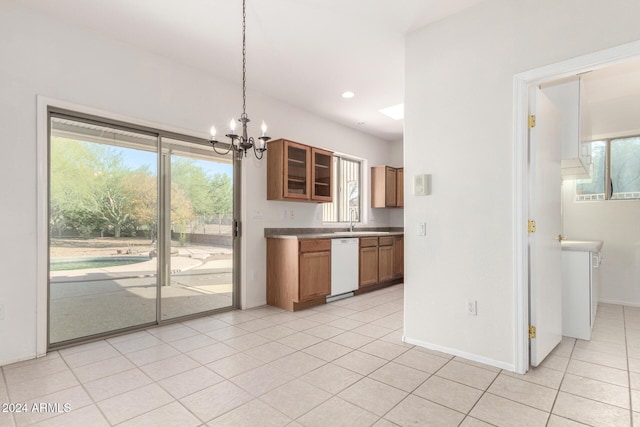
[[[564,234],[602,240],[600,301],[640,306],[640,201],[576,202],[576,182],[562,183]]]

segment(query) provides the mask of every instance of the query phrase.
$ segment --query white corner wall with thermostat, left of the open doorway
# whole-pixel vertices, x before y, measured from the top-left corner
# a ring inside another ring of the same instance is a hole
[[[640,39],[630,0],[486,0],[406,42],[405,339],[513,369],[514,75]],[[606,33],[593,28],[607,28]],[[477,316],[466,301],[477,301]]]

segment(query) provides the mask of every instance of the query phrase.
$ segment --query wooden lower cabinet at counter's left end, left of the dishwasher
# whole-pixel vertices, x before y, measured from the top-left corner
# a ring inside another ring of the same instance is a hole
[[[267,239],[267,304],[296,311],[331,293],[331,240]]]

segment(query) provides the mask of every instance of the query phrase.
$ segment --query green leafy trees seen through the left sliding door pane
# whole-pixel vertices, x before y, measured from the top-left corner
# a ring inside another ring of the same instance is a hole
[[[137,170],[127,167],[126,150],[52,139],[52,229],[61,234],[63,228],[70,227],[86,237],[112,229],[119,238],[125,228],[154,226],[157,178],[145,166]]]

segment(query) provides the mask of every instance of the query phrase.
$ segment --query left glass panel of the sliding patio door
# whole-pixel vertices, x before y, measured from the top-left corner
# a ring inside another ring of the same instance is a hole
[[[156,321],[158,137],[52,115],[49,343]]]

